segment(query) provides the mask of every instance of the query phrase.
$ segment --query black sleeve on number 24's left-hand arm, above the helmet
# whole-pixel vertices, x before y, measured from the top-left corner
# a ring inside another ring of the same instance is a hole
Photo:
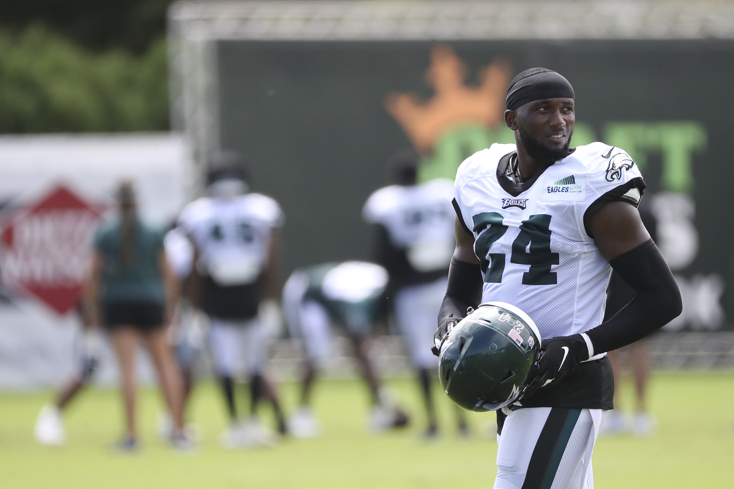
[[[448,268],[448,287],[438,313],[438,326],[453,315],[458,319],[466,316],[466,309],[479,306],[482,302],[482,271],[479,264],[462,262],[451,258]]]

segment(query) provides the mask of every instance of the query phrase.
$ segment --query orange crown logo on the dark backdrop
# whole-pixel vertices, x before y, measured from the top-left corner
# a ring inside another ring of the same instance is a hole
[[[431,52],[426,82],[435,95],[421,101],[409,93],[390,93],[385,100],[388,112],[399,122],[421,154],[432,152],[439,137],[447,130],[466,123],[495,128],[502,120],[510,66],[495,59],[479,72],[479,86],[465,84],[466,63],[448,45]]]

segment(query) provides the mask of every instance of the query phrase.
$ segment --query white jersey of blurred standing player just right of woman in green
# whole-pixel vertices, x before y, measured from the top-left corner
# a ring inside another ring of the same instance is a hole
[[[197,271],[222,287],[252,284],[268,259],[271,232],[283,211],[262,194],[205,197],[184,207],[179,225],[194,240]]]

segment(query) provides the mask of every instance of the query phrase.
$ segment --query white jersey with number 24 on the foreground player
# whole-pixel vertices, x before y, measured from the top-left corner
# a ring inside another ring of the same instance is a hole
[[[493,144],[464,161],[454,194],[482,262],[482,302],[523,309],[543,339],[602,323],[611,267],[589,235],[606,202],[637,205],[638,167],[617,147],[579,146],[537,180],[515,185],[505,174],[515,144]]]

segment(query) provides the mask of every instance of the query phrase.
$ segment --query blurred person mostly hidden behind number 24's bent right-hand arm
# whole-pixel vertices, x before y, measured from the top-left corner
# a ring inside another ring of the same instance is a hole
[[[643,201],[645,202],[645,201]],[[650,238],[657,242],[658,223],[655,215],[650,211],[648,205],[641,204],[639,210],[642,224],[650,234]],[[635,297],[634,291],[617,273],[611,274],[609,287],[607,289],[606,312],[604,320],[608,320],[619,312],[619,309],[629,304]],[[611,368],[614,371],[614,409],[608,411],[600,427],[600,435],[616,435],[631,431],[634,435],[648,436],[653,433],[655,421],[647,412],[646,394],[647,380],[650,377],[650,350],[647,346],[647,338],[640,339],[632,345],[607,353]],[[633,419],[626,419],[619,409],[619,382],[622,380],[622,371],[627,366],[624,356],[629,355],[633,364],[633,377],[635,380],[635,414]]]

